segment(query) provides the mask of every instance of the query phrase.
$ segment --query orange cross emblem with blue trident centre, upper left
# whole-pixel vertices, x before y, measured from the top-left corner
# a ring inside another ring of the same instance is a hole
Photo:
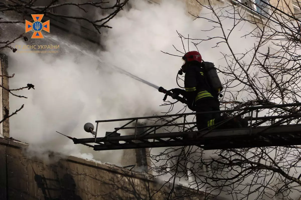
[[[42,31],[50,32],[50,20],[41,22],[44,15],[31,15],[34,22],[25,20],[25,33],[28,31],[34,31],[31,38],[44,38]]]

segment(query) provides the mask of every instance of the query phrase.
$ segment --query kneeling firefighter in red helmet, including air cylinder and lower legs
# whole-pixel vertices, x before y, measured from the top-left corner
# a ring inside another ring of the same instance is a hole
[[[183,57],[184,63],[181,67],[181,72],[185,73],[184,87],[185,90],[175,88],[171,91],[176,95],[181,94],[187,100],[188,108],[196,112],[219,111],[219,92],[222,90],[216,72],[211,72],[211,77],[208,71],[214,68],[214,64],[210,62],[202,62],[202,56],[197,51],[187,52]],[[179,73],[181,74],[181,73]],[[214,80],[213,80],[214,79]],[[215,87],[213,87],[213,84]],[[228,117],[221,116],[220,113],[201,113],[196,114],[196,125],[198,130],[206,127],[214,127],[214,124],[224,121]],[[227,123],[219,126],[224,128],[242,128],[248,127],[248,122],[237,116]]]

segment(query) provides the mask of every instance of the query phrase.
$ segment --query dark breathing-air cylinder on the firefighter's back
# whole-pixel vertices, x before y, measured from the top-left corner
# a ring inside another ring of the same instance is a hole
[[[213,63],[203,62],[204,69],[207,73],[209,82],[214,90],[216,90],[219,94],[222,91],[222,83],[217,75],[216,68]]]

